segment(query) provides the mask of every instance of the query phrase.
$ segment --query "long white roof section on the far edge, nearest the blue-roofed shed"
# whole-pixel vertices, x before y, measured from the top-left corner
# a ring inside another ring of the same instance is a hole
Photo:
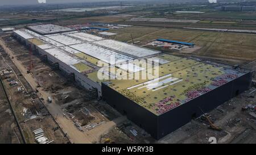
[[[104,47],[112,48],[116,51],[127,53],[135,57],[145,57],[145,56],[150,56],[150,55],[155,55],[157,53],[160,53],[159,51],[153,51],[151,49],[141,48],[135,45],[126,44],[126,43],[122,43],[120,41],[115,41],[115,40],[100,40],[100,41],[94,41],[93,43],[104,46]]]

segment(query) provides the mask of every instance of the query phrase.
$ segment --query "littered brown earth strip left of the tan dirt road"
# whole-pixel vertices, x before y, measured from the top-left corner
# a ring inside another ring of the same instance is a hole
[[[0,61],[4,61],[3,57]],[[24,81],[20,80],[22,78],[19,78],[21,76],[20,73],[17,72],[18,69],[15,68],[15,65],[8,56],[5,56],[5,62],[7,65],[6,69],[12,72],[9,79],[18,82],[17,86],[11,86],[9,84],[10,82],[7,81],[8,79],[3,80],[5,90],[7,91],[19,125],[22,128],[26,143],[35,143],[35,136],[32,131],[38,128],[44,130],[44,136],[50,141],[53,140],[54,143],[67,143],[68,139],[64,137],[59,129],[53,130],[53,128],[56,128],[56,123],[48,114],[39,98],[34,98],[35,95],[27,93],[26,90],[28,88],[26,88],[26,86],[28,86],[28,84],[23,85]],[[24,90],[18,91],[18,87],[22,87]]]

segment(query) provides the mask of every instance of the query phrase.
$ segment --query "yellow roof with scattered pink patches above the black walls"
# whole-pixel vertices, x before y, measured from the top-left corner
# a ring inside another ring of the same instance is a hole
[[[159,64],[158,78],[114,79],[105,83],[155,115],[161,115],[245,74],[187,58],[169,55],[166,59],[170,62]]]

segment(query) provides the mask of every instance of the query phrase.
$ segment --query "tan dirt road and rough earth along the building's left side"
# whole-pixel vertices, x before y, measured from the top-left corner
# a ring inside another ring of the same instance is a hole
[[[5,41],[7,41],[8,47],[5,44]],[[2,44],[3,48],[5,48],[6,53],[9,54],[9,56],[12,58],[12,61],[17,66],[17,68],[20,70],[20,73],[23,75],[23,77],[30,83],[30,86],[33,90],[38,90],[37,95],[39,98],[43,99],[43,102],[53,118],[55,118],[56,122],[60,125],[61,129],[65,133],[67,133],[67,137],[71,141],[71,143],[97,143],[100,141],[100,137],[103,133],[108,132],[110,129],[115,127],[116,124],[119,124],[126,120],[126,118],[120,117],[117,112],[114,112],[112,114],[111,111],[109,111],[110,107],[108,107],[107,104],[100,103],[102,105],[99,105],[99,103],[94,102],[84,102],[84,100],[81,98],[82,106],[80,106],[80,109],[77,108],[76,111],[74,111],[73,116],[75,116],[76,119],[69,118],[68,113],[64,111],[63,106],[65,103],[60,102],[56,94],[58,93],[66,93],[68,91],[75,91],[79,93],[85,93],[83,90],[73,86],[73,85],[66,85],[65,78],[61,77],[61,74],[58,72],[53,72],[51,68],[47,65],[40,64],[40,59],[38,57],[32,56],[32,61],[37,62],[35,63],[34,70],[31,71],[30,74],[27,74],[27,68],[26,68],[26,61],[23,61],[24,59],[27,59],[27,53],[28,51],[26,48],[22,48],[23,51],[25,51],[23,54],[18,52],[21,45],[17,47],[17,43],[14,40],[5,38],[5,41],[0,40],[0,43]],[[15,44],[11,45],[11,44]],[[14,52],[15,51],[15,52]],[[24,56],[25,55],[25,56]],[[38,63],[39,62],[39,63]],[[40,67],[41,65],[41,67]],[[44,68],[44,69],[42,69]],[[44,70],[42,72],[42,70]],[[40,73],[40,74],[39,74]],[[47,79],[47,81],[43,81],[40,79]],[[57,82],[58,81],[58,82]],[[37,87],[38,84],[40,84],[41,87]],[[53,85],[53,86],[52,86]],[[49,89],[49,87],[53,89]],[[57,90],[56,90],[57,87]],[[70,94],[71,95],[71,94]],[[77,95],[77,94],[74,94]],[[47,103],[48,97],[53,97],[53,101],[51,104]],[[71,97],[71,100],[69,102],[74,101],[75,97]],[[75,104],[76,102],[73,102]],[[69,105],[73,106],[72,103],[69,103]],[[97,105],[98,104],[98,105]],[[95,107],[94,107],[95,106]],[[82,114],[82,112],[79,112],[81,108],[86,107],[87,110],[89,110],[93,116],[92,121],[89,122],[83,122],[85,124],[89,125],[95,125],[92,129],[89,131],[86,130],[85,127],[82,127],[83,131],[80,131],[79,128],[76,127],[74,124],[75,120],[83,120],[86,116]],[[101,113],[98,110],[102,110]],[[108,116],[110,116],[109,120],[107,116],[104,116],[105,114],[108,114],[107,112],[110,112]],[[112,110],[113,111],[113,110]]]

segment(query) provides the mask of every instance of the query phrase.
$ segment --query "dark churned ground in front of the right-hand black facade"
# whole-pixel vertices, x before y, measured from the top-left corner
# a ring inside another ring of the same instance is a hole
[[[217,143],[256,143],[256,118],[249,115],[251,110],[242,111],[242,107],[256,103],[256,92],[247,90],[238,97],[230,99],[220,107],[209,112],[214,125],[222,131],[208,128],[207,121],[192,120],[164,137],[159,143],[210,143],[210,137],[216,137]]]

